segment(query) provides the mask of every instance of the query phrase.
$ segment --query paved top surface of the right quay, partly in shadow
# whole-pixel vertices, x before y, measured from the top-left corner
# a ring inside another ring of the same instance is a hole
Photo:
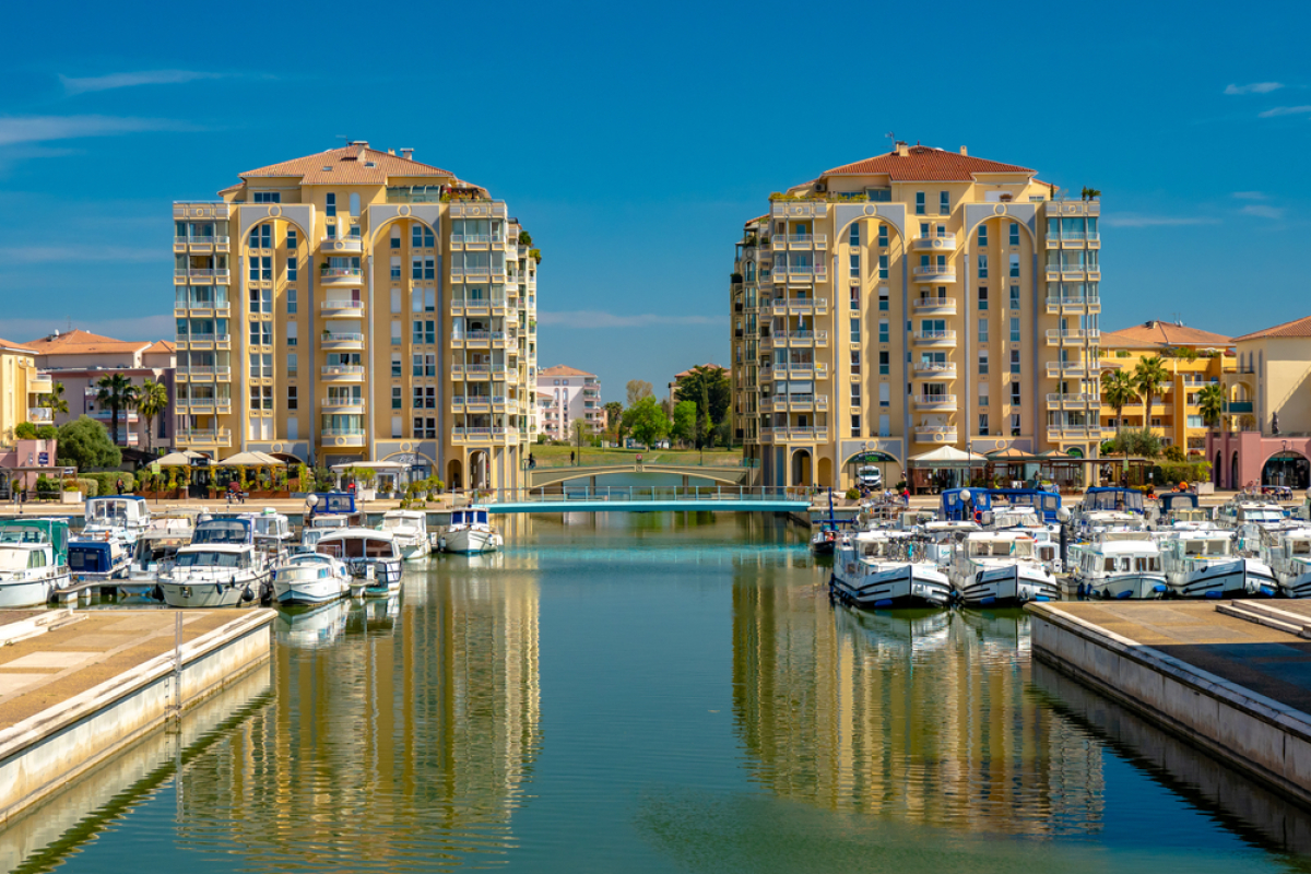
[[[1311,604],[1261,603],[1311,620]],[[1226,616],[1215,604],[1062,601],[1051,607],[1311,714],[1311,641]]]

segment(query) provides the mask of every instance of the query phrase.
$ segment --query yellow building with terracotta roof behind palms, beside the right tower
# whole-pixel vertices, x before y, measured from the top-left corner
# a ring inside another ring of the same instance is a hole
[[[1177,322],[1147,321],[1122,330],[1103,332],[1101,370],[1133,373],[1138,362],[1159,355],[1169,372],[1164,392],[1152,398],[1151,428],[1165,446],[1180,446],[1201,455],[1206,448],[1206,423],[1198,408],[1198,392],[1221,383],[1235,370],[1234,339]],[[1196,358],[1194,358],[1196,355]],[[1141,398],[1124,408],[1124,426],[1141,428],[1146,408]],[[1101,405],[1106,436],[1117,427],[1116,409]]]

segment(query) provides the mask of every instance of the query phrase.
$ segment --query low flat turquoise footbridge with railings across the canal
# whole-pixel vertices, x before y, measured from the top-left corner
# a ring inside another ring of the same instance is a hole
[[[806,489],[773,486],[560,486],[493,490],[486,507],[493,514],[806,512],[809,497]]]

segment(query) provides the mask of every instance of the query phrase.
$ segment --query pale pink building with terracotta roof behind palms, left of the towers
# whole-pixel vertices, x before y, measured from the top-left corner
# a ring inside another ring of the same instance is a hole
[[[55,425],[71,422],[81,415],[89,415],[110,426],[109,405],[96,400],[98,383],[111,373],[122,373],[138,388],[147,379],[164,384],[168,389],[168,410],[153,422],[155,434],[147,440],[146,421],[135,409],[118,411],[118,444],[128,448],[166,448],[173,444],[173,417],[177,405],[177,352],[169,341],[125,341],[101,337],[81,329],[66,334],[55,332],[49,337],[25,343],[35,352],[37,366],[47,372],[52,383],[64,387],[67,413],[54,417]],[[216,402],[208,397],[211,405]],[[193,401],[194,405],[194,401]]]

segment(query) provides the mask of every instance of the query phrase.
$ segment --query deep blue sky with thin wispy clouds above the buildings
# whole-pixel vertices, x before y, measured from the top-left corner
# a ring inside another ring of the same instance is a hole
[[[1082,8],[1095,14],[1071,13]],[[770,191],[886,151],[889,131],[1101,189],[1105,329],[1179,314],[1239,334],[1311,309],[1306,4],[1259,16],[1215,3],[21,4],[5,16],[9,339],[69,320],[169,335],[170,202],[212,199],[237,172],[338,136],[413,147],[509,200],[543,250],[539,360],[599,373],[607,400],[629,379],[661,387],[726,363],[742,221]]]

